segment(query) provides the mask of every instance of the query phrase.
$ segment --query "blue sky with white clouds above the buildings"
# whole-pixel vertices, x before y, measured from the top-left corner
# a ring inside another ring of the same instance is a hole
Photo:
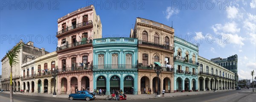
[[[176,36],[200,45],[204,58],[237,54],[239,79],[251,79],[250,71],[256,70],[256,0],[0,2],[1,59],[20,39],[55,51],[58,18],[94,4],[103,37],[129,37],[136,17],[143,17],[173,26]]]

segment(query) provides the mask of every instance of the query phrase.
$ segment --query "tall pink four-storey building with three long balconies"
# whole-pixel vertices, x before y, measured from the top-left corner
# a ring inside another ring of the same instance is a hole
[[[58,19],[58,94],[93,88],[93,39],[102,37],[94,6],[79,8]]]

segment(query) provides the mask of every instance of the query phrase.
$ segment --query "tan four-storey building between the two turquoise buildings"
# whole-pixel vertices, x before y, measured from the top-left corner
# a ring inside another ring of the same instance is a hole
[[[137,18],[130,37],[138,39],[138,94],[144,90],[173,92],[174,28],[152,20]],[[154,62],[161,63],[159,83],[154,71]]]

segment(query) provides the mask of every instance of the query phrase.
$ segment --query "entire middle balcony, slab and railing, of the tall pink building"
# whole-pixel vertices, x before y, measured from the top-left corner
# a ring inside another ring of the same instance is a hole
[[[76,48],[92,46],[92,42],[93,42],[92,40],[86,40],[86,41],[71,43],[68,45],[63,45],[61,47],[58,47],[56,49],[56,52],[60,53],[60,52],[69,51],[69,50],[76,49]]]

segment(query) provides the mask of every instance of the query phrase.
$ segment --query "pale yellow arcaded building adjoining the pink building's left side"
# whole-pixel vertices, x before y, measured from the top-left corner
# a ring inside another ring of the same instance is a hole
[[[35,83],[35,86],[32,84],[32,88],[35,87],[34,93],[53,93],[55,80],[52,71],[56,68],[58,68],[58,58],[55,51],[35,59],[35,79],[31,82]],[[55,79],[57,81],[57,77]],[[55,84],[55,88],[57,85],[58,83]]]

